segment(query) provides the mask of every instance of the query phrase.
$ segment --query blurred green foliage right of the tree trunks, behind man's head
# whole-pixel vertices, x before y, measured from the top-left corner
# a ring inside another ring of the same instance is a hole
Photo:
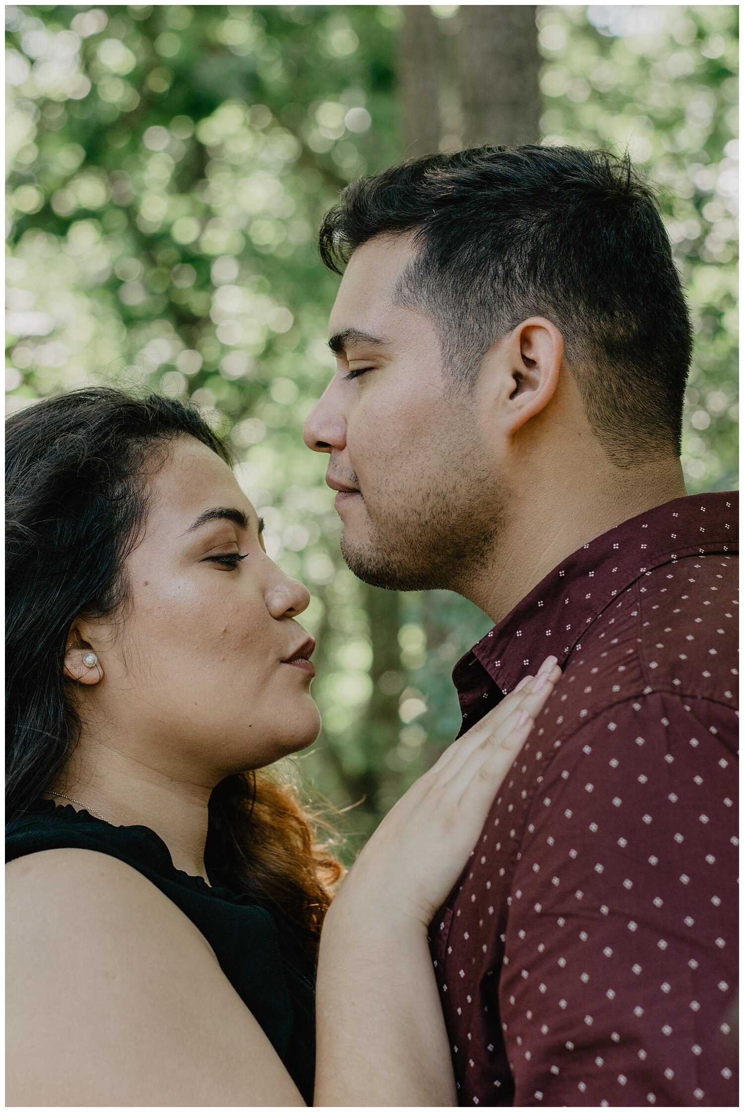
[[[609,4],[539,18],[545,140],[627,148],[661,187],[695,329],[691,492],[737,474],[737,18],[734,6]]]

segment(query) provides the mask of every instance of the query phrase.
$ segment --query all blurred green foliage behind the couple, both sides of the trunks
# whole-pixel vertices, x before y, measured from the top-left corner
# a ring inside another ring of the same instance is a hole
[[[432,10],[456,33],[456,7]],[[333,367],[338,279],[315,230],[348,181],[403,153],[401,11],[6,12],[9,407],[144,384],[191,397],[230,437],[268,550],[313,596],[324,728],[306,767],[338,804],[375,782],[351,821],[369,832],[456,733],[450,672],[489,627],[456,596],[401,597],[395,667],[376,676],[399,721],[378,744],[373,602],[341,559],[325,460],[301,429]],[[539,9],[544,141],[627,147],[662,187],[697,335],[691,490],[735,484],[736,19],[734,6]]]

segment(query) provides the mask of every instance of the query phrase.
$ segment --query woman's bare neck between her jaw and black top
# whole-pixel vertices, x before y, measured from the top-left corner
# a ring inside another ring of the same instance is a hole
[[[71,796],[113,826],[149,826],[168,846],[175,868],[209,883],[204,845],[211,787],[173,778],[100,742],[93,767],[86,751],[81,743],[43,794]]]

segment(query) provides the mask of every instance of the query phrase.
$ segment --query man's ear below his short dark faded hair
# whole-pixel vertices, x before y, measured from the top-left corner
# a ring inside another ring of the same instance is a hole
[[[499,364],[501,417],[513,434],[555,394],[563,336],[545,317],[530,317],[500,340],[493,355]]]

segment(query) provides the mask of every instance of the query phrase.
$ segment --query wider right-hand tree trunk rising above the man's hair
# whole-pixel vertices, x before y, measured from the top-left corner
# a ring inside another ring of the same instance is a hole
[[[463,145],[513,146],[540,133],[540,54],[534,4],[464,4],[455,57]]]

